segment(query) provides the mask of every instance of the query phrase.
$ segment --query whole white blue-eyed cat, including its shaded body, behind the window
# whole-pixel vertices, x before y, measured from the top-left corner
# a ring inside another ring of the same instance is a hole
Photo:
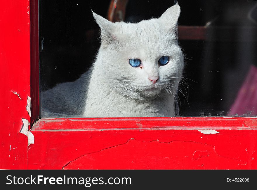
[[[173,117],[183,70],[178,4],[158,19],[112,23],[93,13],[101,46],[93,67],[74,82],[41,93],[42,117]],[[53,115],[54,114],[54,115]]]

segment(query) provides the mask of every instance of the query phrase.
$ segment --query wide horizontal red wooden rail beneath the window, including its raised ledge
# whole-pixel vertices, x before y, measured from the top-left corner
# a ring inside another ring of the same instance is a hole
[[[29,148],[28,167],[257,169],[256,122],[256,118],[44,119],[32,127],[35,144]],[[203,134],[201,129],[219,133]]]

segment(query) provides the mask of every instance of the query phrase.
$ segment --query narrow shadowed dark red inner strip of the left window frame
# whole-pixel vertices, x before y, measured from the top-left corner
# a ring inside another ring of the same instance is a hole
[[[39,33],[38,0],[30,0],[31,123],[39,119]]]

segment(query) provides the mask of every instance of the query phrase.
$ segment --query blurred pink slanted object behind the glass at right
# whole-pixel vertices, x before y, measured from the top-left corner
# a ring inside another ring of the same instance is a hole
[[[240,88],[229,115],[255,116],[257,114],[257,68],[252,65]]]

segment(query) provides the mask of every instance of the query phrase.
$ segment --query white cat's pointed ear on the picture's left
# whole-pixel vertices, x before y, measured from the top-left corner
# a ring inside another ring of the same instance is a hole
[[[96,23],[100,26],[101,29],[101,41],[102,44],[109,44],[115,39],[114,35],[114,23],[109,20],[101,17],[100,15],[93,12],[93,17],[95,18]]]

